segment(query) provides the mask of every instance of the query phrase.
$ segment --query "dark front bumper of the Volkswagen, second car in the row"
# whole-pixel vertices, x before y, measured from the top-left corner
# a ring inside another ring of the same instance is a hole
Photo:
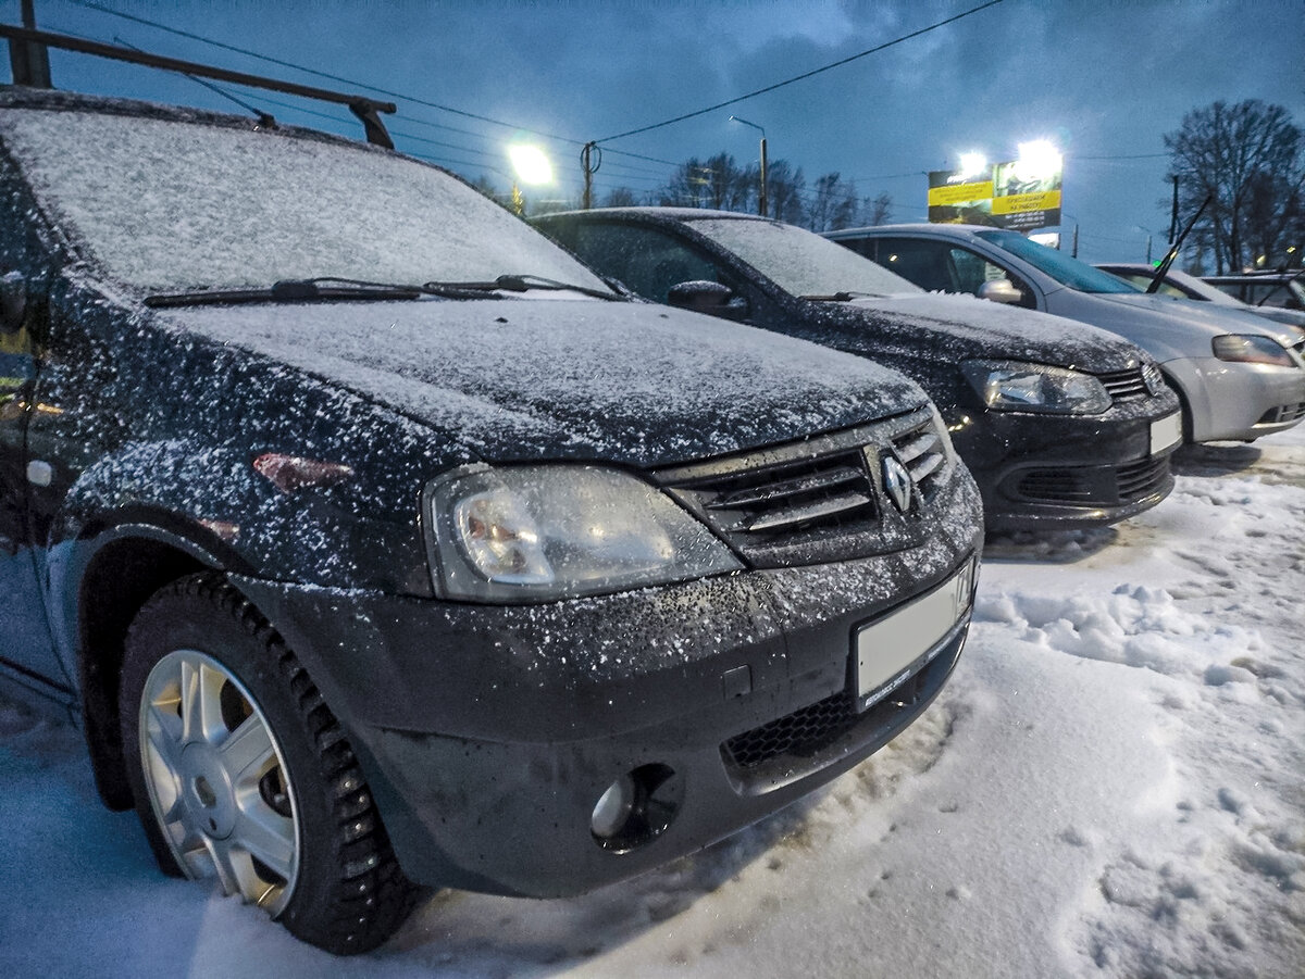
[[[983,411],[949,428],[983,493],[989,531],[1103,527],[1173,490],[1169,456],[1181,420],[1178,442],[1159,435],[1178,411],[1164,392],[1096,416]]]

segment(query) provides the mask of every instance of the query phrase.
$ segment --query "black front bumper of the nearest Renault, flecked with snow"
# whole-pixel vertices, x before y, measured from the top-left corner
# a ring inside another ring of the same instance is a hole
[[[846,703],[853,637],[976,559],[977,494],[957,482],[967,519],[912,550],[548,605],[232,580],[348,731],[411,879],[560,897],[754,823],[925,709],[960,653],[968,607],[932,660],[864,713]],[[673,819],[637,846],[604,846],[595,803],[633,770],[673,774]]]

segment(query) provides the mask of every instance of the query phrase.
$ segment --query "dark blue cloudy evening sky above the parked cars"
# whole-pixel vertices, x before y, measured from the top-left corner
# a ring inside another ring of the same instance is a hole
[[[398,147],[470,179],[509,183],[505,145],[514,126],[551,134],[539,142],[559,180],[539,193],[574,198],[578,142],[741,95],[979,3],[97,0],[356,85],[72,0],[35,7],[47,30],[304,83],[378,86],[509,124],[398,99],[398,115],[388,119]],[[18,21],[17,0],[0,9],[7,22]],[[193,82],[80,55],[54,52],[52,74],[59,87],[239,111]],[[288,96],[273,104],[240,95],[286,123],[359,132],[334,107],[309,107],[331,116],[322,119],[288,107]],[[1141,261],[1148,232],[1159,250],[1168,229],[1164,133],[1193,108],[1249,98],[1283,104],[1305,125],[1301,0],[1005,0],[812,80],[607,146],[667,162],[722,150],[754,160],[757,133],[729,123],[733,112],[765,126],[771,159],[801,166],[809,183],[838,171],[863,196],[887,192],[895,219],[923,220],[925,171],[951,168],[968,150],[1013,159],[1019,142],[1051,138],[1065,154],[1065,227],[1079,226],[1081,257]],[[655,160],[607,153],[598,192],[664,184],[672,167]]]

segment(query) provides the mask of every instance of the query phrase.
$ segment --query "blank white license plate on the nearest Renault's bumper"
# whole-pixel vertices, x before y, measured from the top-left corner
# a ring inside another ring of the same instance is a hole
[[[861,626],[856,632],[856,694],[864,710],[911,675],[908,667],[936,647],[970,610],[975,562],[928,594]]]

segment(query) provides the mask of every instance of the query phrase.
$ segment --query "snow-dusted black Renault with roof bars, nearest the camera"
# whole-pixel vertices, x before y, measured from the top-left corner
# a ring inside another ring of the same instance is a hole
[[[8,90],[0,188],[0,680],[170,873],[333,952],[579,893],[957,662],[979,494],[891,370],[266,120]]]

